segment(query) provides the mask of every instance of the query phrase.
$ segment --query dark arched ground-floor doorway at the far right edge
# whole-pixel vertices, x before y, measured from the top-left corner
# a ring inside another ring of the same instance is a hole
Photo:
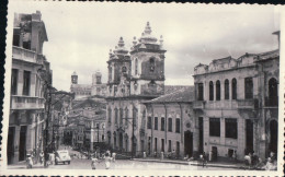
[[[270,121],[270,151],[276,153],[278,146],[278,123],[276,120]]]

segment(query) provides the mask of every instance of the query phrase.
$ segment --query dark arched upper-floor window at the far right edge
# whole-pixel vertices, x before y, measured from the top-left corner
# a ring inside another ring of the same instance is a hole
[[[278,105],[278,85],[274,78],[269,81],[269,106]]]

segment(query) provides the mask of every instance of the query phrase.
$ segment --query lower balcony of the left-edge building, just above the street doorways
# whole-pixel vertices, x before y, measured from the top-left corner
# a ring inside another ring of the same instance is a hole
[[[45,99],[31,96],[11,96],[11,109],[44,109]]]

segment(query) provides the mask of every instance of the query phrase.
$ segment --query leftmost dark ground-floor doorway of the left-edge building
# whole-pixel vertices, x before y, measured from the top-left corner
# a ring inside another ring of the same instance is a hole
[[[8,144],[7,144],[8,165],[13,163],[13,157],[14,157],[14,137],[15,137],[15,128],[14,127],[9,127]]]

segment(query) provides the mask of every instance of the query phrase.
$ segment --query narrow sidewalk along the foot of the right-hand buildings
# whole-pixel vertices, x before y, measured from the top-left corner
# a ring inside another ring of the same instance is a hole
[[[181,164],[181,165],[195,165],[202,166],[200,161],[183,161],[183,160],[160,160],[160,158],[134,158],[138,162],[156,162],[156,163],[170,163],[170,164]],[[221,167],[221,168],[237,168],[240,169],[243,166],[243,163],[233,163],[233,162],[208,162],[208,167]]]

